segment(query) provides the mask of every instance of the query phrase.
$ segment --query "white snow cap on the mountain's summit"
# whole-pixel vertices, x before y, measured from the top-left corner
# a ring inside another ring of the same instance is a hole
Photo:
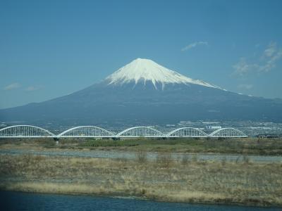
[[[135,84],[144,82],[146,84],[146,82],[152,82],[154,87],[156,87],[156,84],[161,84],[164,87],[165,84],[173,83],[198,84],[205,87],[219,88],[202,80],[185,77],[178,72],[164,68],[153,60],[145,58],[133,60],[131,63],[128,63],[123,68],[118,69],[106,77],[106,80],[109,84],[125,84],[129,82],[135,82]]]

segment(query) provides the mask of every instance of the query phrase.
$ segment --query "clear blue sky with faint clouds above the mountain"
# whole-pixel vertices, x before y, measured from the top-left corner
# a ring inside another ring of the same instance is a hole
[[[135,58],[282,98],[282,1],[0,1],[0,108],[101,81]]]

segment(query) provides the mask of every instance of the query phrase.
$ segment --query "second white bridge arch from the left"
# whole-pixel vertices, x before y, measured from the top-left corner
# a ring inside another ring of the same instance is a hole
[[[67,129],[58,137],[112,137],[114,134],[108,130],[96,126],[79,126]]]

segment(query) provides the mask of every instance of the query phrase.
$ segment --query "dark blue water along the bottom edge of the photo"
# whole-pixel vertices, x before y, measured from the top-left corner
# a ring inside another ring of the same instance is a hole
[[[133,198],[68,196],[0,191],[0,210],[281,210],[274,207],[161,203]]]

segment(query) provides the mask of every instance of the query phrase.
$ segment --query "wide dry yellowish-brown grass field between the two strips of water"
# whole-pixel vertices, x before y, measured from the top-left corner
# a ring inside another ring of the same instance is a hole
[[[0,155],[0,188],[137,196],[161,201],[282,206],[282,163]]]

